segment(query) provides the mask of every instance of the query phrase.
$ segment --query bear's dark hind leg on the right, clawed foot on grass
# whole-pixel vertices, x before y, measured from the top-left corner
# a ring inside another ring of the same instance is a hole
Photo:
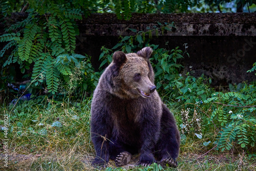
[[[156,144],[156,157],[162,166],[168,164],[170,167],[177,167],[176,159],[179,155],[180,134],[172,113],[163,105],[161,118],[161,133]]]

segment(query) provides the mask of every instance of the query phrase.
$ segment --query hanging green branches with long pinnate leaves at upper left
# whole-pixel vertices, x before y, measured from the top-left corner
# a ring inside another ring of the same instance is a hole
[[[1,60],[5,61],[3,66],[17,62],[22,73],[32,67],[34,85],[46,84],[51,94],[58,92],[61,81],[69,81],[75,67],[89,61],[89,57],[74,53],[75,36],[79,34],[75,20],[82,19],[81,10],[69,6],[69,2],[62,3],[29,1],[28,17],[8,27],[6,32],[9,33],[0,36],[0,42],[7,42],[0,52]],[[6,53],[8,49],[11,53]],[[90,63],[86,68],[90,70],[90,79],[95,79]],[[93,86],[83,90],[92,90]]]

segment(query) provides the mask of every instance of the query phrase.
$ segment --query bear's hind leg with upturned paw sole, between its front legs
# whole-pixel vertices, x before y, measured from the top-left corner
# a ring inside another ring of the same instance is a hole
[[[132,160],[132,154],[127,149],[121,143],[111,140],[110,159],[115,160],[116,165],[119,167],[128,164]]]

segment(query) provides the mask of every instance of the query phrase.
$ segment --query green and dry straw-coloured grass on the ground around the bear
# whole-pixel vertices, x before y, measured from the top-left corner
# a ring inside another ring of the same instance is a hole
[[[93,168],[90,164],[94,157],[90,139],[90,103],[91,98],[82,102],[37,98],[14,108],[6,104],[0,110],[0,126],[3,127],[6,114],[10,125],[7,137],[4,131],[0,132],[0,170],[159,170],[157,165],[136,166],[138,156],[123,168],[116,168],[114,161],[106,168]],[[179,106],[168,103],[168,107],[179,124]],[[234,149],[233,153],[214,149],[197,159],[214,147],[212,143],[202,145],[204,141],[212,141],[214,135],[212,130],[203,139],[188,136],[181,144],[179,166],[163,169],[256,170],[256,162],[240,149]],[[8,143],[4,143],[5,139]],[[8,167],[4,166],[4,149],[8,150]]]

